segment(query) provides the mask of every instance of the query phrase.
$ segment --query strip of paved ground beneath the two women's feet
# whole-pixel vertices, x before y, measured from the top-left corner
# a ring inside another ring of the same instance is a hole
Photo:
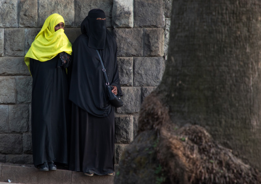
[[[0,163],[0,184],[30,183],[30,184],[113,184],[114,176],[85,176],[81,172],[58,169],[56,171],[39,171],[32,166],[11,165]],[[9,182],[10,183],[10,182]]]

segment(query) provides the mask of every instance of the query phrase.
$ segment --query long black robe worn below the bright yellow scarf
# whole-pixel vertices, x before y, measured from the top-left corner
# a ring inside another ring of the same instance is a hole
[[[58,61],[59,55],[46,62],[30,58],[33,78],[32,149],[35,167],[53,160],[68,163],[68,79],[65,68],[58,68]]]

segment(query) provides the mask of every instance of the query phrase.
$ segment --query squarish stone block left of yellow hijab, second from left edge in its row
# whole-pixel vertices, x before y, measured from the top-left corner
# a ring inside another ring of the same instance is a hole
[[[5,56],[25,55],[25,29],[5,29]]]

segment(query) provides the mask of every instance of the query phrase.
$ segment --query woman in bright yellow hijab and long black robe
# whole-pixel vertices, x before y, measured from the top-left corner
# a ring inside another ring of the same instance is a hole
[[[25,55],[32,84],[33,163],[41,171],[56,170],[54,161],[67,164],[69,126],[68,81],[71,43],[64,34],[64,19],[50,15]]]

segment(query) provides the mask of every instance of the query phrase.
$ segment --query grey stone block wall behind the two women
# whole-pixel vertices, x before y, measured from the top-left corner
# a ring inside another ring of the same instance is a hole
[[[24,56],[45,19],[59,13],[70,42],[92,8],[105,11],[118,43],[124,106],[116,110],[116,163],[133,140],[143,99],[160,83],[172,0],[0,0],[0,162],[32,163],[32,78]]]

